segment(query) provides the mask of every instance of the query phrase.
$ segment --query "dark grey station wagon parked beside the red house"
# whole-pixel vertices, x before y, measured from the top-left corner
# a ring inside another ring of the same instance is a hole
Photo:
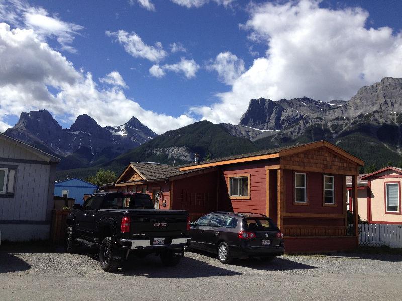
[[[212,212],[191,224],[190,248],[218,255],[222,263],[233,258],[271,260],[283,255],[283,234],[272,219],[262,214]]]

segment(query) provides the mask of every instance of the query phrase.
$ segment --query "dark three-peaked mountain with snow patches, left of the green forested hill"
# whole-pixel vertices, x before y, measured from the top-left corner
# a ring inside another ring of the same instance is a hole
[[[101,127],[83,114],[63,129],[47,110],[21,113],[17,124],[4,134],[61,157],[58,169],[107,162],[156,136],[135,117],[120,126]]]

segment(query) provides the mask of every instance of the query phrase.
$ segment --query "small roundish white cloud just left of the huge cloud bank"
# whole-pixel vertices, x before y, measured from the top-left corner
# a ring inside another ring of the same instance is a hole
[[[221,52],[209,62],[207,70],[215,70],[220,81],[231,85],[244,72],[244,61],[229,51]]]

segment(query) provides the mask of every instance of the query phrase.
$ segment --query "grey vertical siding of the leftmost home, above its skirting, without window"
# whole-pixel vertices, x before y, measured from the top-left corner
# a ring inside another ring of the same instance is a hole
[[[3,139],[0,158],[0,166],[17,166],[14,196],[0,197],[0,220],[50,221],[56,164],[48,164],[44,157]]]

